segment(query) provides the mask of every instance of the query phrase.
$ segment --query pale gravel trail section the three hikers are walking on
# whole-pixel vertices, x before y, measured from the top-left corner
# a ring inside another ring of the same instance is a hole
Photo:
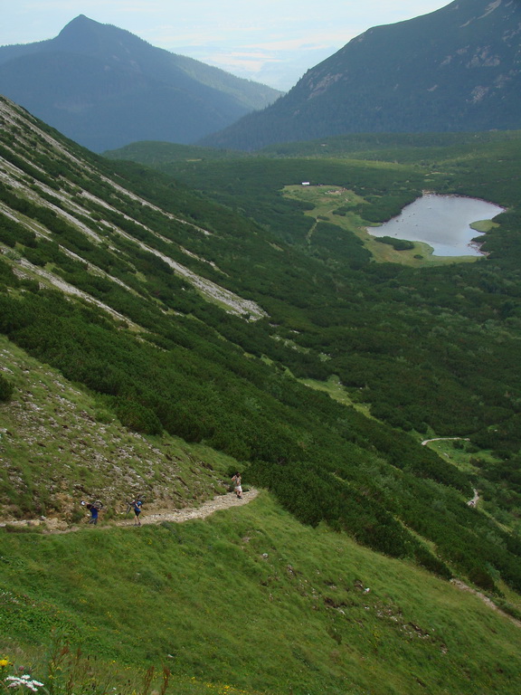
[[[216,495],[212,500],[205,501],[200,507],[186,507],[185,509],[150,509],[147,511],[147,506],[141,514],[141,526],[149,524],[162,524],[164,521],[174,521],[181,523],[190,519],[205,519],[213,514],[214,511],[221,509],[231,509],[232,507],[242,507],[254,500],[259,494],[259,490],[251,488],[247,492],[242,493],[242,500],[238,500],[233,492],[226,495]],[[16,527],[42,527],[43,534],[51,533],[71,533],[79,531],[81,528],[88,526],[88,519],[74,526],[67,526],[65,521],[61,519],[16,519],[14,521],[4,521],[0,523],[0,527],[16,526]],[[125,515],[125,519],[110,519],[107,523],[103,523],[103,512],[99,515],[99,526],[97,529],[106,528],[134,528],[134,513]]]

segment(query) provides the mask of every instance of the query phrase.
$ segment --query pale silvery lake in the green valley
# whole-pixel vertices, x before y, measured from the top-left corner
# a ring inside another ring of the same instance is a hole
[[[471,223],[491,220],[504,212],[499,205],[459,195],[423,195],[403,208],[398,217],[380,227],[368,227],[372,236],[392,236],[428,243],[436,256],[478,256],[479,233]]]

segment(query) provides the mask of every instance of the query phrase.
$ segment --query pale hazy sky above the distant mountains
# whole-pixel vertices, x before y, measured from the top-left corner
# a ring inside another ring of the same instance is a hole
[[[449,0],[0,0],[0,45],[51,39],[78,14],[148,43],[287,90],[377,24]]]

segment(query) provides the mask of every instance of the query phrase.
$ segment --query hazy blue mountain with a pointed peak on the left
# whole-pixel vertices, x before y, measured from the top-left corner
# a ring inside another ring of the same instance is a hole
[[[193,142],[279,96],[82,14],[53,39],[0,47],[0,93],[94,151]]]

